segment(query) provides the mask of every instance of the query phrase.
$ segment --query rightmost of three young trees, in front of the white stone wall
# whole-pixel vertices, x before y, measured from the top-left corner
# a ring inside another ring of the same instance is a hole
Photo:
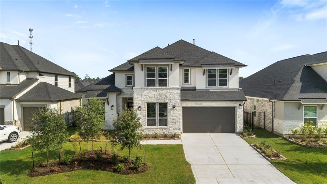
[[[121,149],[129,149],[129,163],[132,165],[130,150],[139,147],[142,139],[142,124],[140,118],[133,109],[125,109],[121,115],[112,123],[115,129],[113,133],[112,144],[121,145]]]

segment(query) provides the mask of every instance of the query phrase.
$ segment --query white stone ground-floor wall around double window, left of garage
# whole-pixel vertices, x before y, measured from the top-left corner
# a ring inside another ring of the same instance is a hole
[[[134,109],[144,126],[143,133],[162,135],[163,133],[181,133],[181,87],[134,87]],[[168,126],[146,127],[146,103],[168,103]],[[173,105],[176,110],[173,111]],[[141,106],[141,111],[138,111]]]

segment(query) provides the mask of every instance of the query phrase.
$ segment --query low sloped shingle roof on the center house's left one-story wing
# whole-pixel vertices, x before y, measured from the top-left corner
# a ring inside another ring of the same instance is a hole
[[[87,91],[103,91],[108,92],[121,92],[122,90],[117,88],[115,85],[115,74],[111,74],[105,78],[100,79],[98,82],[88,85],[76,92],[87,92]]]

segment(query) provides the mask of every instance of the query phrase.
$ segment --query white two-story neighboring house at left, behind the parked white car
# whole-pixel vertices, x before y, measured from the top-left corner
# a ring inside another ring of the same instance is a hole
[[[0,124],[28,130],[32,113],[45,107],[70,112],[80,105],[73,72],[19,45],[0,42]]]

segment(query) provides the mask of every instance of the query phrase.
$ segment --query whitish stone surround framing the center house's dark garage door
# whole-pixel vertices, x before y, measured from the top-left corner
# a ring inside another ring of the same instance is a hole
[[[236,132],[243,132],[243,108],[239,108],[242,102],[229,102],[229,101],[181,101],[182,107],[235,107],[236,109]],[[182,113],[181,113],[181,126],[182,126]]]

